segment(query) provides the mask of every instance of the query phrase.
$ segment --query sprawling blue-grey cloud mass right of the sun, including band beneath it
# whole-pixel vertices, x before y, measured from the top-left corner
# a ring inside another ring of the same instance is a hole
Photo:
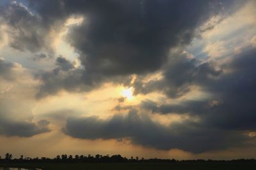
[[[184,84],[188,87],[196,85],[211,94],[211,97],[195,101],[183,100],[178,104],[158,104],[146,100],[133,108],[161,114],[188,114],[189,120],[174,122],[165,127],[131,111],[127,116],[114,116],[109,120],[97,117],[71,118],[67,121],[65,133],[83,139],[131,138],[133,143],[143,146],[164,150],[179,148],[193,153],[243,146],[249,139],[246,132],[256,130],[256,49],[244,48],[230,62],[222,64],[222,71],[214,69],[214,65],[209,63],[198,65],[195,59],[187,55],[183,53],[177,56],[175,62],[172,62],[177,67],[166,67],[168,69],[163,80],[154,82],[154,86],[161,85],[161,88],[152,88],[153,91],[168,92],[169,88],[176,88],[177,83],[177,87]],[[147,84],[143,88],[146,87]],[[172,97],[170,93],[166,94]],[[115,110],[131,108],[118,105]]]

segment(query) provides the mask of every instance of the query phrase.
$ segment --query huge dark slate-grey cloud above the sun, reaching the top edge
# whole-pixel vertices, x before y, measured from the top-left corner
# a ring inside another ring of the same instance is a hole
[[[86,71],[147,73],[161,67],[170,48],[191,41],[209,8],[208,1],[97,1],[68,39]]]

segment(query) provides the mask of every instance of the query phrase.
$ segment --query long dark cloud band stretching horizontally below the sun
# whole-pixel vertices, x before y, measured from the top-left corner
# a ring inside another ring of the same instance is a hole
[[[65,134],[81,139],[130,138],[132,143],[161,150],[179,148],[193,153],[243,145],[248,137],[239,132],[201,127],[184,121],[164,126],[147,115],[130,110],[125,116],[115,115],[108,120],[98,117],[68,118]]]

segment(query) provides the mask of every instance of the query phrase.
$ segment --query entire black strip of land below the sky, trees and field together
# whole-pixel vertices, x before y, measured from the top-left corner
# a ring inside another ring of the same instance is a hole
[[[0,159],[0,165],[4,170],[8,167],[26,169],[253,169],[256,166],[255,159],[237,160],[175,160],[175,159],[139,159],[131,157],[127,159],[121,155],[57,155],[54,159],[46,157],[35,159],[12,159],[12,153],[6,153],[4,159]],[[1,169],[1,168],[0,168]],[[2,169],[1,169],[2,170]]]

